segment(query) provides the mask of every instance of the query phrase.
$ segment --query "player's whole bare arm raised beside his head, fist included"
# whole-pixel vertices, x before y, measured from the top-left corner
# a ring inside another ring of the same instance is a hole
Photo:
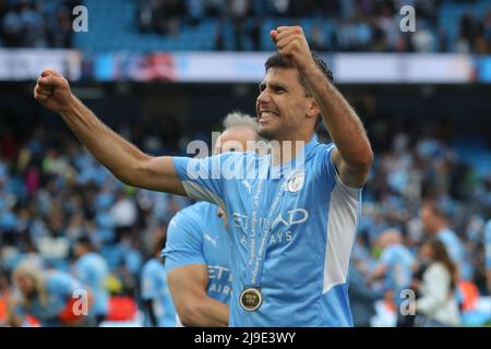
[[[282,56],[307,79],[331,139],[332,154],[342,181],[362,186],[373,163],[373,152],[361,120],[343,95],[315,65],[309,44],[299,26],[280,26],[271,33]]]

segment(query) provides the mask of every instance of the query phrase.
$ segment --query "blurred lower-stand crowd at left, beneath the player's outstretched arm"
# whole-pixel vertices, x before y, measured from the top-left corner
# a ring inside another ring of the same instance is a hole
[[[26,260],[76,275],[84,239],[107,262],[108,291],[139,302],[144,263],[189,201],[123,185],[62,128],[10,121],[0,132],[0,303]]]

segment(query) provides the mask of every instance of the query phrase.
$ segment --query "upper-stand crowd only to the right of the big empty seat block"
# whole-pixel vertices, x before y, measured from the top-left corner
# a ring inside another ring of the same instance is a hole
[[[271,49],[262,41],[264,26],[297,23],[308,28],[311,46],[319,51],[489,53],[491,7],[479,15],[460,11],[456,23],[458,33],[453,35],[448,26],[454,23],[447,24],[450,20],[440,10],[442,5],[459,3],[445,0],[141,0],[137,19],[143,33],[169,36],[178,36],[182,27],[213,19],[218,28],[216,50]],[[403,19],[399,10],[404,5],[415,8],[415,33],[399,29]],[[231,47],[224,43],[227,29],[233,34]]]

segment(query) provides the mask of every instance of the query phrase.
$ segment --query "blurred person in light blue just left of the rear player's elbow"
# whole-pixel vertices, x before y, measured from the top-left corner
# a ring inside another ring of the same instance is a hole
[[[157,239],[153,256],[142,268],[142,304],[145,327],[176,326],[176,308],[167,284],[166,268],[160,251],[166,244],[166,237]]]

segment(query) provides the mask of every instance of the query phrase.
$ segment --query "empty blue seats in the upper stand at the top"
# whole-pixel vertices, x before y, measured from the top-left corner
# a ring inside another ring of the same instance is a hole
[[[48,8],[57,2],[58,0],[48,0],[44,5]],[[183,23],[178,37],[158,34],[142,34],[139,32],[136,23],[139,0],[85,0],[84,4],[89,11],[91,35],[84,33],[74,35],[75,47],[84,51],[213,50],[215,48],[215,36],[217,31],[220,31],[224,36],[224,49],[233,50],[235,48],[233,31],[229,22],[221,28],[219,27],[218,20],[214,19],[204,19],[195,26],[189,26]],[[433,27],[432,32],[445,32],[448,49],[454,50],[463,14],[474,13],[477,17],[480,17],[490,8],[491,3],[488,0],[469,2],[444,1],[439,9],[438,27]],[[311,28],[316,25],[327,38],[327,44],[330,44],[328,38],[332,36],[337,24],[333,19],[321,19],[320,16],[298,20],[264,17],[260,33],[261,50],[274,49],[273,44],[270,40],[270,28],[285,23],[302,25],[308,35],[310,34]],[[253,19],[248,19],[246,25],[253,25]],[[252,49],[253,46],[250,39],[244,38],[244,40],[246,49]]]

